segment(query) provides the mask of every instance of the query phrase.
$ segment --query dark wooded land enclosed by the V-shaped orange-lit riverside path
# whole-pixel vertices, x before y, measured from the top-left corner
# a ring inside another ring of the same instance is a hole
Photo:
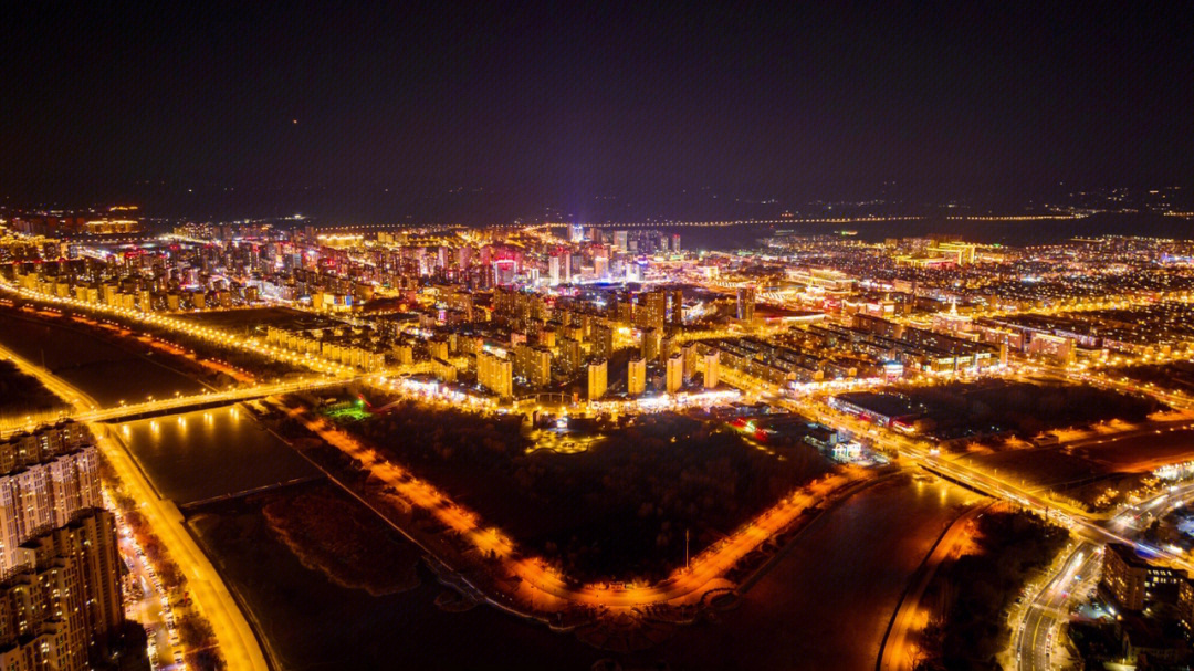
[[[691,552],[830,464],[807,445],[781,460],[721,423],[677,414],[605,426],[578,455],[525,454],[521,418],[413,402],[344,425],[581,580],[660,578]]]

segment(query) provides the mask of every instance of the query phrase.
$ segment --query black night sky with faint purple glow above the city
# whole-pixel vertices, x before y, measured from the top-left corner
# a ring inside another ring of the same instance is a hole
[[[160,5],[6,10],[10,202],[318,190],[365,216],[462,189],[584,216],[1194,176],[1183,4]]]

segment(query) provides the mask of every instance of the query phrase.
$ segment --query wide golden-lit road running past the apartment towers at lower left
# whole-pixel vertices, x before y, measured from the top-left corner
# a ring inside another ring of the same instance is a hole
[[[23,371],[37,377],[50,392],[70,404],[79,414],[99,407],[82,390],[48,370],[29,363],[8,349],[0,346],[0,356],[12,359]],[[153,486],[110,427],[94,423],[88,424],[88,427],[96,435],[97,445],[116,470],[125,492],[137,501],[139,510],[144,516],[149,528],[153,529],[154,535],[168,548],[171,558],[186,574],[196,610],[211,623],[220,652],[228,663],[228,669],[267,671],[269,665],[253,630],[248,627],[248,622],[215,567],[211,566],[207,555],[186,531],[183,516],[173,501],[158,497]]]

